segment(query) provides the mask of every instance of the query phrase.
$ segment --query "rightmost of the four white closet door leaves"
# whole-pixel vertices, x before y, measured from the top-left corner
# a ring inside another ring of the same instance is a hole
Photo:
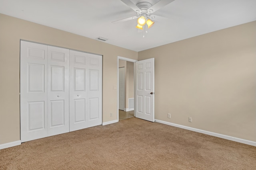
[[[102,124],[102,56],[88,54],[88,127]]]

